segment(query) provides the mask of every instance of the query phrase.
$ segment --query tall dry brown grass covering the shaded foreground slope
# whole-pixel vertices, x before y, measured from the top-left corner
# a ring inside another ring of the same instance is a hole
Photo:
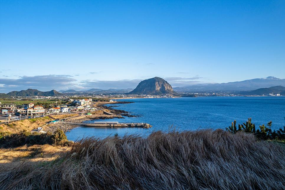
[[[90,137],[55,161],[1,168],[0,189],[284,189],[284,155],[221,129]]]

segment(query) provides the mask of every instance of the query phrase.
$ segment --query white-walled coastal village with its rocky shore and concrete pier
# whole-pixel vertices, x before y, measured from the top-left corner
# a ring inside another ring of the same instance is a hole
[[[53,104],[45,105],[39,101],[48,99]],[[39,123],[30,129],[31,133],[54,133],[57,129],[64,132],[79,126],[113,126],[113,127],[143,127],[149,128],[151,125],[146,123],[119,123],[119,122],[94,122],[84,124],[83,121],[109,118],[123,118],[123,116],[135,117],[123,110],[114,110],[105,104],[122,104],[129,102],[117,102],[117,99],[107,98],[79,98],[79,97],[32,97],[28,101],[35,103],[19,104],[27,101],[15,99],[16,103],[0,102],[0,121],[8,124],[19,120],[30,120],[45,118],[48,121]],[[37,103],[36,103],[37,102]],[[109,110],[111,108],[111,110]]]

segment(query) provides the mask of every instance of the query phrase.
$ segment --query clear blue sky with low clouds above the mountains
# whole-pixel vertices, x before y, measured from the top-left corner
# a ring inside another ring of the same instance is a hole
[[[3,1],[0,92],[285,78],[285,1]]]

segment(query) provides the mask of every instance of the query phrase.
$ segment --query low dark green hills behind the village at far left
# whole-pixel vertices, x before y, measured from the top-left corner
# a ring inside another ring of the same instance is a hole
[[[36,89],[27,89],[27,90],[21,90],[21,91],[12,91],[7,93],[10,96],[60,96],[60,92],[56,90],[51,90],[47,92],[42,92]]]

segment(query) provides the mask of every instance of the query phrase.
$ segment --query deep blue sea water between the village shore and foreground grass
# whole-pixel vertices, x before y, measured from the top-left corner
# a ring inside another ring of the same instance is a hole
[[[136,98],[130,104],[113,104],[114,109],[131,112],[141,117],[114,118],[104,121],[119,123],[148,123],[153,127],[77,127],[66,132],[69,140],[87,136],[107,137],[118,133],[148,135],[153,130],[168,131],[170,126],[178,130],[225,129],[236,120],[237,124],[251,117],[256,129],[259,125],[272,121],[271,129],[285,125],[285,97],[197,97],[197,98]],[[103,120],[96,120],[103,121]]]

